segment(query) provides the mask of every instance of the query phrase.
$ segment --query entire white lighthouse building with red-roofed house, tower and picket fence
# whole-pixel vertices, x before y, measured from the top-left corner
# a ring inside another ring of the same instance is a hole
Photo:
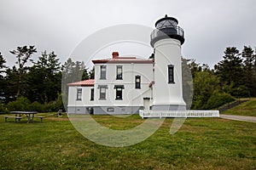
[[[183,99],[184,31],[167,15],[150,35],[154,59],[111,57],[92,60],[95,78],[68,84],[67,112],[142,117],[218,116],[218,111],[186,111]],[[148,35],[149,36],[149,35]],[[149,42],[148,42],[149,43]]]

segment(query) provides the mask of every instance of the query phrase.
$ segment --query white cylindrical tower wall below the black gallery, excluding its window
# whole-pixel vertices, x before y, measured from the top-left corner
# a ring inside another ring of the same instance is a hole
[[[172,38],[154,43],[153,105],[185,105],[183,101],[181,43]],[[168,83],[168,65],[174,65],[174,82]]]

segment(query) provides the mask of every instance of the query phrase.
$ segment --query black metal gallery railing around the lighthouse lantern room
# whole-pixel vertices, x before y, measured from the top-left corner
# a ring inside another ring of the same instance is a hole
[[[166,26],[166,27],[161,27],[160,29],[154,29],[154,31],[152,31],[150,35],[151,40],[154,39],[155,37],[160,37],[160,36],[184,37],[184,31],[179,26]]]

